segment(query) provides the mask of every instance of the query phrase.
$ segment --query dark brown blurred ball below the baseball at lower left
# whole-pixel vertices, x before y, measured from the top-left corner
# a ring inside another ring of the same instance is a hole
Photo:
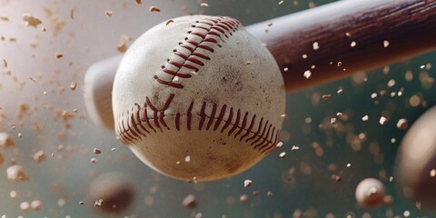
[[[122,213],[134,201],[134,185],[121,173],[104,173],[88,190],[88,204],[104,213]]]

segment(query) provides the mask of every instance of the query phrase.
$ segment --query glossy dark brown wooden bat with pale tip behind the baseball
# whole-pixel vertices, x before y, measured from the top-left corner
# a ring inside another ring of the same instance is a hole
[[[246,29],[270,50],[292,92],[436,50],[436,0],[342,0]],[[88,113],[109,129],[120,61],[96,63],[85,76]]]

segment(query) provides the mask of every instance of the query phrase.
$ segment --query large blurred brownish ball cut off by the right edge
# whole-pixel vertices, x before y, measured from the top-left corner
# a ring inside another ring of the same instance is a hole
[[[411,126],[396,157],[395,181],[401,193],[436,210],[436,107]]]

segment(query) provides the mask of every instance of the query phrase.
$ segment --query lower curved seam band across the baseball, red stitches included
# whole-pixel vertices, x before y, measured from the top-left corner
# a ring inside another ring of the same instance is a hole
[[[236,110],[233,109],[233,107],[230,107],[228,110],[229,114],[224,117],[224,114],[228,109],[226,104],[223,104],[220,110],[218,110],[217,104],[213,104],[212,112],[210,114],[205,114],[206,106],[207,104],[203,102],[200,113],[196,114],[200,116],[200,122],[198,124],[199,131],[209,131],[211,127],[213,127],[213,131],[219,131],[219,127],[222,123],[224,123],[221,127],[222,134],[227,133],[227,136],[230,137],[234,133],[234,139],[240,135],[240,142],[244,141],[246,144],[250,144],[253,146],[253,149],[257,149],[261,153],[272,152],[275,148],[274,145],[278,143],[279,130],[272,126],[272,124],[269,124],[268,121],[264,121],[263,117],[258,123],[257,130],[253,132],[253,127],[257,118],[256,114],[253,114],[251,117],[249,117],[248,112],[242,114],[240,109]],[[153,117],[148,116],[147,112],[150,111],[149,109],[153,112]],[[150,105],[147,106],[147,104],[145,104],[144,108],[141,108],[139,104],[136,104],[136,109],[133,109],[132,113],[127,114],[126,118],[128,119],[126,119],[126,121],[124,121],[124,119],[120,119],[120,122],[117,125],[119,140],[121,140],[124,144],[133,144],[134,141],[139,140],[142,137],[147,137],[147,134],[151,135],[153,133],[157,133],[158,131],[163,133],[165,128],[167,130],[171,130],[168,124],[164,122],[164,116],[175,116],[174,126],[177,131],[180,131],[182,126],[181,116],[185,116],[186,129],[188,131],[193,129],[191,123],[193,102],[190,104],[185,114],[177,113],[165,115],[163,113],[164,110],[159,111],[154,109],[155,108]],[[219,112],[218,115],[217,112]],[[236,117],[234,124],[232,123],[233,117]],[[248,124],[247,122],[249,120],[251,121]],[[205,128],[203,128],[204,125]],[[228,131],[224,132],[225,130]],[[243,133],[243,131],[245,131],[245,133]],[[250,134],[253,135],[250,136]],[[244,140],[244,138],[246,139]]]

